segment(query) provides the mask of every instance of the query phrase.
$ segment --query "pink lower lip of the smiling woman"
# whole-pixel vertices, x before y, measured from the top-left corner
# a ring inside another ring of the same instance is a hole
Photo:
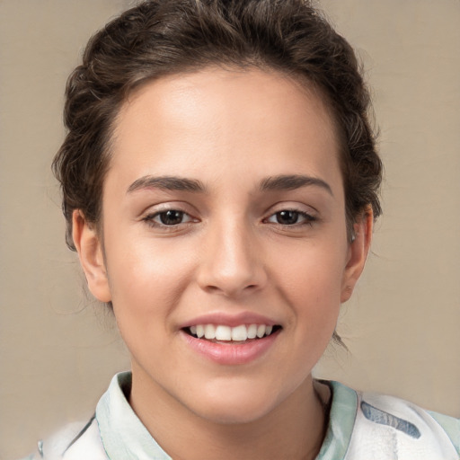
[[[250,363],[266,353],[276,341],[279,332],[280,330],[273,332],[268,337],[245,343],[215,343],[197,339],[183,331],[181,331],[181,336],[191,349],[205,358],[222,365],[241,365]]]

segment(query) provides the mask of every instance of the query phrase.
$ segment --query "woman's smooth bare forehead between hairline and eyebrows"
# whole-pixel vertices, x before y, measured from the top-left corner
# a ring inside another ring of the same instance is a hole
[[[339,170],[321,93],[276,72],[208,68],[160,78],[128,97],[114,131],[110,171],[133,181],[172,170],[212,180],[242,165],[255,174],[270,166],[272,175]]]

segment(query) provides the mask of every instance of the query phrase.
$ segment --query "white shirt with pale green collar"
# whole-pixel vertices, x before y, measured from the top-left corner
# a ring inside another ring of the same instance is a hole
[[[460,420],[402,399],[361,393],[338,382],[331,389],[328,429],[316,460],[458,460]],[[131,373],[113,377],[83,429],[75,425],[39,443],[24,460],[171,460],[128,403]]]

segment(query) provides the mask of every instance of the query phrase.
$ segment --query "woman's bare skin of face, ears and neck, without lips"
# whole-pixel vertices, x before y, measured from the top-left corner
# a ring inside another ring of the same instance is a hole
[[[74,240],[130,350],[134,411],[174,459],[314,458],[324,414],[311,371],[372,230],[368,212],[347,239],[338,137],[319,94],[277,73],[208,68],[138,89],[115,128],[102,230],[76,210]],[[280,174],[315,181],[261,190]],[[205,191],[149,182],[164,176]],[[182,220],[162,225],[174,209]],[[217,364],[183,341],[200,314],[244,312],[282,326],[249,363]]]

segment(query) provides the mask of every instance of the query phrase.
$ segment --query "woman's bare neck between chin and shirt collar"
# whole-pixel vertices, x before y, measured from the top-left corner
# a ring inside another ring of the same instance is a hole
[[[323,403],[311,376],[275,409],[244,423],[200,417],[148,380],[133,369],[129,402],[156,442],[176,460],[310,460],[323,443]]]

